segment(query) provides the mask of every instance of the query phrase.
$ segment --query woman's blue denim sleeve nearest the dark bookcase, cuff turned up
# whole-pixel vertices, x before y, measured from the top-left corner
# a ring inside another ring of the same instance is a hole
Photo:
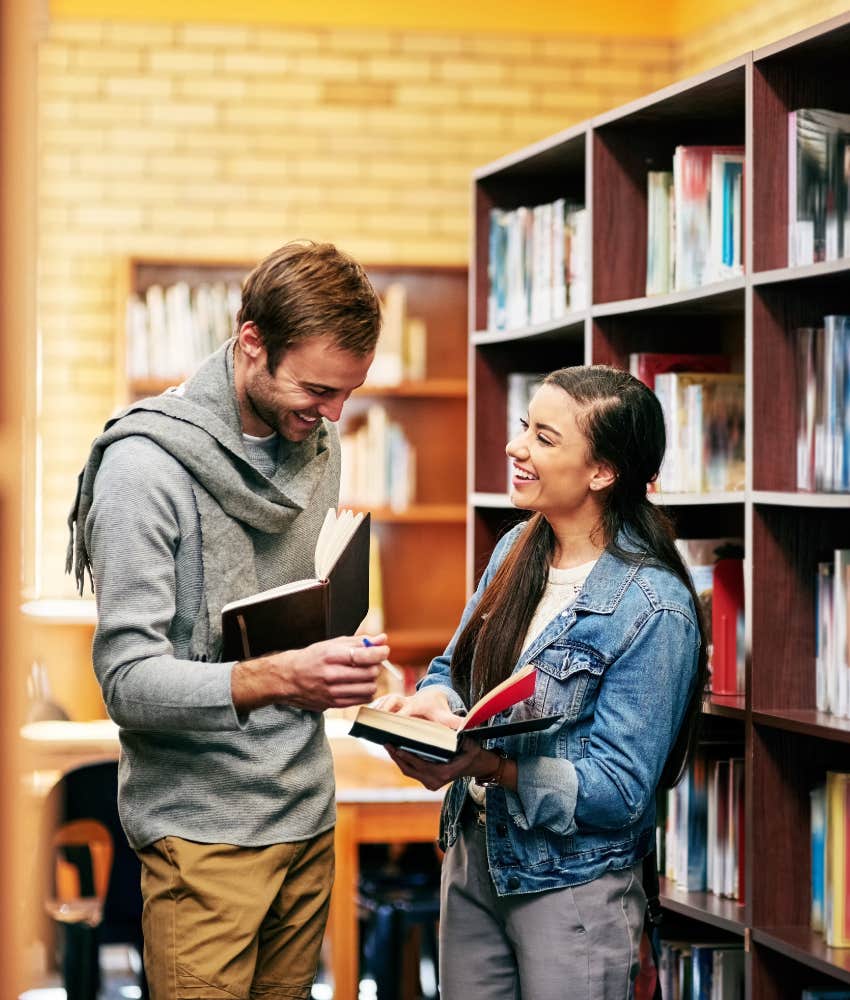
[[[602,679],[584,755],[524,757],[508,811],[522,829],[569,836],[618,830],[651,804],[694,683],[699,634],[678,611],[654,612]]]

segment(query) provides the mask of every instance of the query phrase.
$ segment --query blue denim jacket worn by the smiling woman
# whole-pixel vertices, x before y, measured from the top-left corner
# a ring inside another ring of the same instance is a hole
[[[516,541],[496,546],[446,651],[420,687],[451,689],[452,651]],[[618,543],[635,550],[622,535]],[[488,788],[487,857],[499,895],[589,882],[652,848],[655,790],[696,678],[699,629],[690,593],[670,570],[603,552],[575,603],[556,615],[513,669],[537,667],[533,698],[502,716],[560,714],[544,732],[489,744],[517,762],[517,791]],[[440,843],[458,836],[469,778],[446,794]]]

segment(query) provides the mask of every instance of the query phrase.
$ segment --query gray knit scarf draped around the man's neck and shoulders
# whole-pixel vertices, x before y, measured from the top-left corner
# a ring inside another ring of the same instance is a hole
[[[233,378],[233,341],[211,355],[184,385],[143,399],[109,420],[77,481],[68,515],[66,572],[74,572],[79,593],[88,574],[94,589],[85,524],[103,453],[133,435],[150,438],[192,477],[201,524],[204,596],[192,633],[193,659],[217,660],[221,651],[221,609],[259,589],[249,529],[274,536],[286,580],[313,575],[313,550],[329,507],[339,491],[339,439],[322,424],[301,442],[280,439],[278,465],[267,479],[245,453]]]

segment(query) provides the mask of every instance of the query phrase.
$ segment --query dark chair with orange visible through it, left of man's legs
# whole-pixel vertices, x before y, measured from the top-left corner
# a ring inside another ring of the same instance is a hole
[[[105,761],[67,772],[45,808],[45,908],[60,930],[68,1000],[96,1000],[99,948],[127,944],[141,955],[141,863],[118,818],[118,764]],[[147,997],[144,970],[139,976]]]

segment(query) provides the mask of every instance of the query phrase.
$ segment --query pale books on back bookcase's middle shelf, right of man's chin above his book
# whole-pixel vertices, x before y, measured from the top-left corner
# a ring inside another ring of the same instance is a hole
[[[416,496],[416,452],[385,407],[372,404],[362,423],[341,435],[340,502],[406,510]]]

